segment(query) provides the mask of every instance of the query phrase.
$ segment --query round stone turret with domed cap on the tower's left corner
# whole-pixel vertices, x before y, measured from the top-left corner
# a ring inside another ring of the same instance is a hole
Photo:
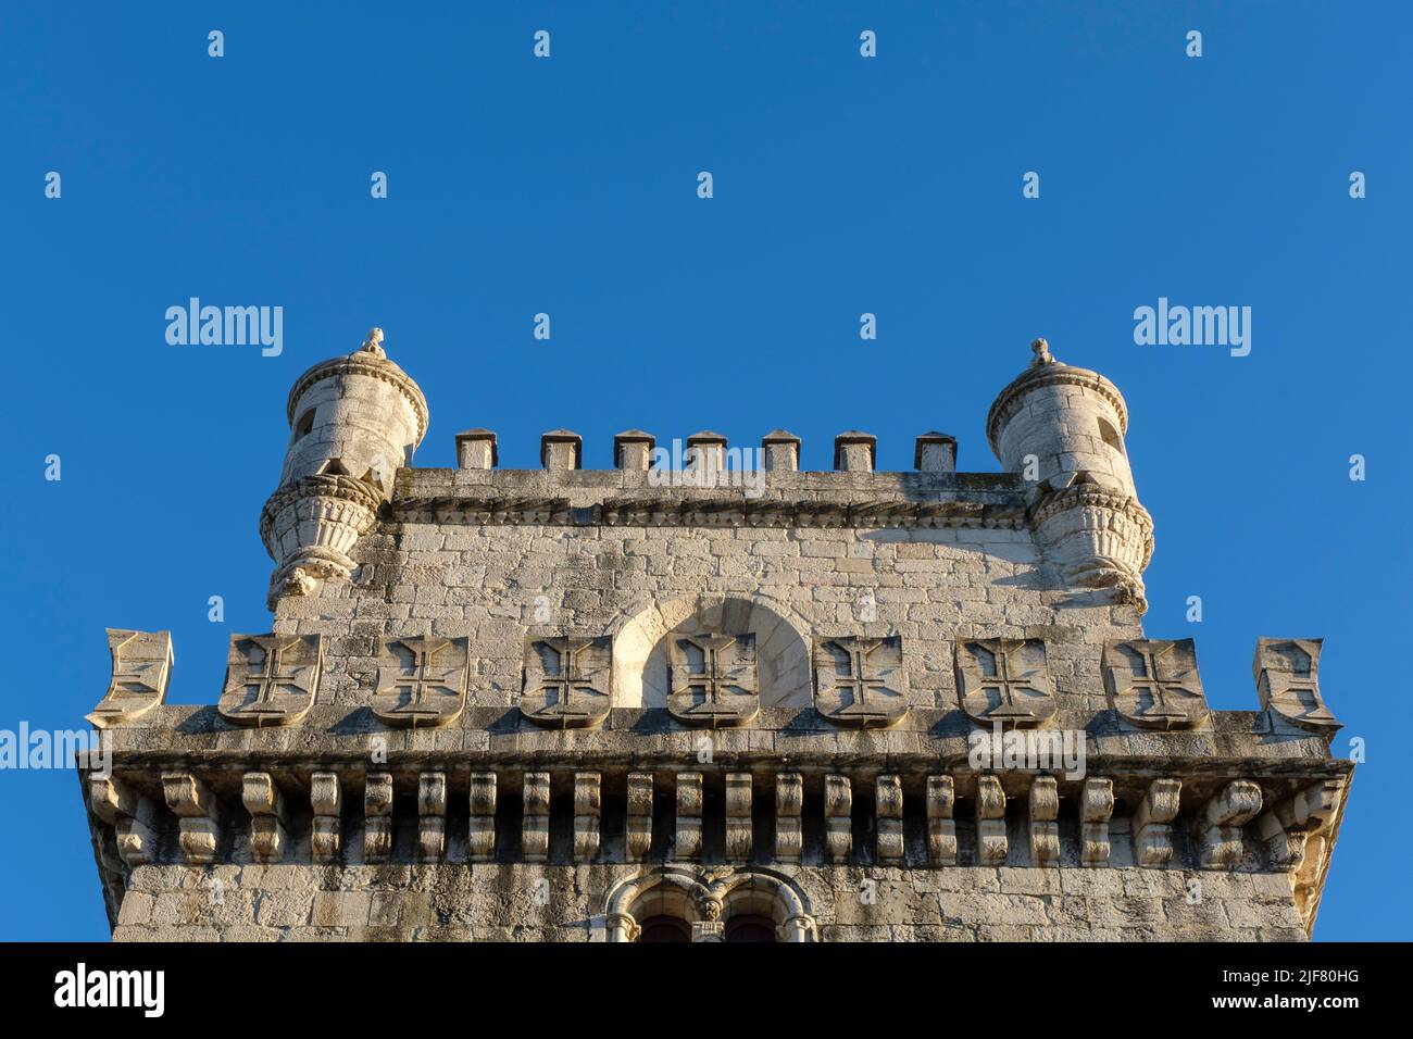
[[[276,561],[271,609],[281,595],[349,577],[349,551],[427,433],[427,399],[382,344],[374,328],[357,351],[315,365],[290,390],[290,447],[260,515]]]

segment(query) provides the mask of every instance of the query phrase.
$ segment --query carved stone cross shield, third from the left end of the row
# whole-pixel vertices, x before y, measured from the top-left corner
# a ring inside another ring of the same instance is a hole
[[[373,714],[386,725],[445,725],[466,704],[466,639],[394,639],[377,664]]]

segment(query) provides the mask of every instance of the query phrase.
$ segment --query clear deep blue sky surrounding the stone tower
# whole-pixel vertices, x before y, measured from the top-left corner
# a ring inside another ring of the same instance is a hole
[[[1046,335],[1128,397],[1147,630],[1197,639],[1212,705],[1256,707],[1259,635],[1325,638],[1368,762],[1316,936],[1410,936],[1406,4],[408,7],[0,11],[0,728],[82,724],[105,626],[170,628],[170,700],[215,701],[227,635],[268,630],[285,393],[373,324],[428,466],[472,425],[521,468],[554,427],[606,468],[629,427],[783,425],[808,468],[938,428],[995,471]],[[191,295],[281,305],[284,353],[170,346]],[[1135,345],[1160,295],[1252,307],[1251,355]],[[0,773],[0,937],[105,937],[73,773]]]

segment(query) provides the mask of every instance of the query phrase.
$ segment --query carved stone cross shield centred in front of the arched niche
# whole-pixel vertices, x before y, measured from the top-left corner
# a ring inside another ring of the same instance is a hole
[[[667,710],[684,725],[743,725],[760,710],[755,635],[668,636]]]

